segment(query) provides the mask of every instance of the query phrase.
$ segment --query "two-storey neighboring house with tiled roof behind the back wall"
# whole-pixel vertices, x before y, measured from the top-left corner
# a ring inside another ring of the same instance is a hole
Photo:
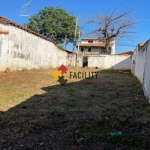
[[[106,54],[105,43],[100,42],[97,38],[83,38],[78,45],[78,54],[100,55]],[[110,54],[115,54],[115,39],[110,43]]]

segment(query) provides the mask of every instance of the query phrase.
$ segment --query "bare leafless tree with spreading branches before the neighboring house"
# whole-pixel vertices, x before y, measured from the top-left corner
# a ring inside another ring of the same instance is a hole
[[[105,42],[106,53],[109,54],[110,42],[116,38],[131,38],[131,34],[135,33],[131,29],[135,28],[135,22],[129,15],[131,10],[123,13],[116,13],[116,9],[110,13],[102,13],[101,15],[93,15],[87,23],[98,25],[98,28],[89,34],[96,36],[99,41]]]

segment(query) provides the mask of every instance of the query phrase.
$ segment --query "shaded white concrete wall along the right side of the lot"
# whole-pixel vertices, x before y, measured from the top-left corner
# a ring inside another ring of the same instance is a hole
[[[133,61],[135,60],[135,64]],[[132,73],[140,80],[145,96],[150,101],[150,40],[144,46],[136,47],[131,63]]]

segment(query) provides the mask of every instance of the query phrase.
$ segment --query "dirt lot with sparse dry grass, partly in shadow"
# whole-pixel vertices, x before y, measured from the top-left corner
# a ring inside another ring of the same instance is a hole
[[[0,73],[0,150],[148,150],[150,105],[127,72],[68,68]],[[70,72],[98,71],[89,84]],[[111,137],[110,132],[122,136]]]

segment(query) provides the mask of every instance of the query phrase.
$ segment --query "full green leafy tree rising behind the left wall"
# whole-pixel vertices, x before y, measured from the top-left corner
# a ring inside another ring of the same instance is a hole
[[[74,31],[76,17],[61,7],[46,7],[29,19],[27,27],[47,38],[56,41],[57,44],[75,41]],[[79,29],[79,27],[78,27]]]

